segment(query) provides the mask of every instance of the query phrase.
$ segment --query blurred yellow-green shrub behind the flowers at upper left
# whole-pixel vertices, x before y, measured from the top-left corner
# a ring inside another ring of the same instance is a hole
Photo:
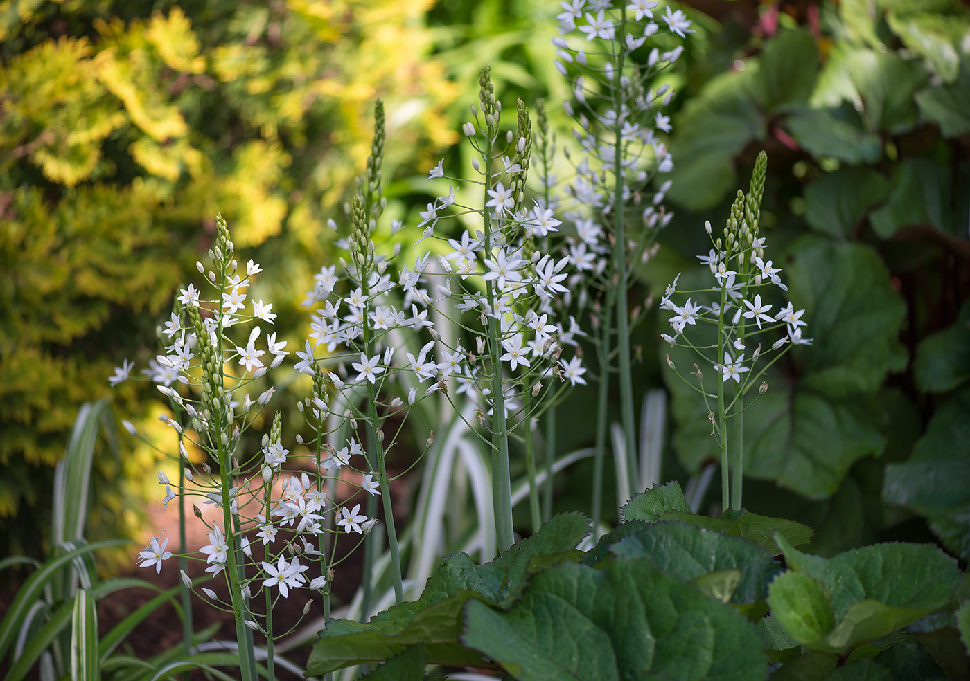
[[[424,165],[456,139],[444,111],[458,87],[428,58],[431,6],[211,0],[139,16],[118,0],[0,2],[0,533],[12,550],[36,538],[19,520],[49,504],[78,407],[123,358],[154,356],[158,317],[178,284],[198,283],[216,210],[238,248],[276,237],[272,253],[305,259],[264,263],[293,277],[275,309],[295,309],[370,151],[373,100],[390,112],[385,167]],[[146,422],[144,390],[115,395],[119,415]],[[115,491],[105,508],[127,508],[131,490]]]

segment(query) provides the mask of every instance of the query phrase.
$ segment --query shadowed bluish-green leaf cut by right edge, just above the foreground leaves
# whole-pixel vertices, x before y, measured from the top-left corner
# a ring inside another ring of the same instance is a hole
[[[883,499],[924,515],[944,544],[970,559],[970,386],[940,407],[904,463],[889,464]]]

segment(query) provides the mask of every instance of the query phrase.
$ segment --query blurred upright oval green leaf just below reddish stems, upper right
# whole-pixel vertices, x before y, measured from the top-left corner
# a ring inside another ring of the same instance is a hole
[[[808,100],[819,75],[819,50],[808,31],[780,31],[764,46],[755,96],[771,113]]]

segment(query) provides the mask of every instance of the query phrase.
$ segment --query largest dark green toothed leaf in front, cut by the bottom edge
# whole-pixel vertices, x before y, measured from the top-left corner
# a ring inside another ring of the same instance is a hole
[[[469,604],[463,640],[524,679],[764,677],[757,632],[726,605],[648,561],[598,567],[538,573],[508,610]]]

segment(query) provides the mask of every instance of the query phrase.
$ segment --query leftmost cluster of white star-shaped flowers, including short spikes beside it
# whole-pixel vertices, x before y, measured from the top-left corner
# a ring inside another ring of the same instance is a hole
[[[304,445],[301,455],[312,460],[313,473],[307,474],[306,463],[297,466],[303,472],[289,473],[288,464],[292,468],[296,462],[282,444],[278,414],[259,451],[248,457],[242,454],[242,433],[261,418],[275,393],[275,387],[266,387],[265,375],[289,352],[286,341],[277,341],[275,332],[261,342],[262,325],[274,324],[273,305],[247,298],[250,281],[262,268],[250,260],[243,275],[221,216],[216,224],[217,243],[209,254],[212,266],[207,270],[197,263],[211,294],[207,296],[193,285],[179,292],[175,310],[161,331],[168,343],[165,354],[151,360],[143,373],[168,399],[174,416],[162,419],[178,434],[181,474],[178,482],[158,474],[165,488],[163,501],[167,507],[178,495],[196,496],[222,511],[222,522],[209,526],[209,543],[199,548],[200,560],[205,560],[210,575],[230,579],[235,587],[231,588],[234,608],[244,609],[246,621],[255,622],[263,615],[254,614],[244,603],[258,588],[278,587],[283,597],[303,586],[326,593],[333,565],[325,551],[334,545],[327,534],[337,533],[339,528],[363,536],[376,522],[361,514],[359,505],[348,511],[334,499],[330,488],[340,469],[355,469],[351,480],[353,475],[359,476],[362,491],[379,494],[379,490],[366,452],[353,439],[343,449],[330,448],[330,455],[324,458],[327,445],[318,442],[315,452],[307,453],[310,448],[297,436],[298,445]],[[127,379],[132,368],[126,361],[115,370],[111,383]],[[251,389],[257,385],[263,385],[258,393]],[[308,402],[322,405],[318,396]],[[134,431],[134,426],[126,427]],[[220,472],[213,474],[205,458],[190,457],[186,445],[206,452]],[[355,455],[368,473],[352,466]],[[201,512],[197,514],[203,517]],[[139,565],[160,572],[173,556],[167,550],[168,542],[167,538],[152,538],[139,555]],[[266,560],[253,558],[251,542],[262,543]],[[301,562],[307,559],[318,565],[317,576],[308,584],[304,573],[310,565]],[[240,573],[245,576],[237,579]],[[206,593],[214,598],[210,589]],[[235,594],[241,596],[240,603]]]

